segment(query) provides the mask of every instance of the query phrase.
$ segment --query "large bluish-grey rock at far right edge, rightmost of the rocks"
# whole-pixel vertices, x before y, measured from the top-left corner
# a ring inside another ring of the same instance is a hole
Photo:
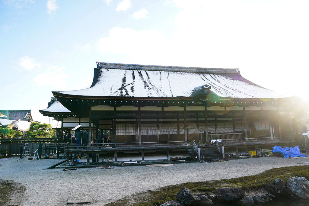
[[[290,178],[286,182],[292,194],[309,200],[309,182],[304,177]]]

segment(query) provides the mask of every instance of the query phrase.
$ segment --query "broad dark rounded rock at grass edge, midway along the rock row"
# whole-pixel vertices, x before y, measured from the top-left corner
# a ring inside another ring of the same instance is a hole
[[[220,187],[217,191],[218,200],[236,201],[244,196],[243,189],[239,187]]]

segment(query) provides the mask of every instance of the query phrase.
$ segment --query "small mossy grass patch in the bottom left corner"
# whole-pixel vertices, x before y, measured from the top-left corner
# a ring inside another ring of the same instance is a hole
[[[11,200],[11,196],[23,194],[25,190],[26,188],[20,183],[0,179],[0,206],[7,205]]]

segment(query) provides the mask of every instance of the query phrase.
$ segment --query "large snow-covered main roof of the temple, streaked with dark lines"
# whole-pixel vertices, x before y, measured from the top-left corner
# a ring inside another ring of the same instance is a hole
[[[90,88],[53,92],[54,96],[190,97],[208,84],[211,92],[232,98],[283,98],[240,75],[238,69],[171,67],[97,62]]]

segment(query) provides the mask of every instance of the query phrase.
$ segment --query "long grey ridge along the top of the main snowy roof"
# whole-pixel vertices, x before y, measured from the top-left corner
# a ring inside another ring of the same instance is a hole
[[[148,70],[148,71],[179,71],[179,72],[203,72],[203,73],[238,73],[239,69],[233,68],[207,68],[207,67],[179,67],[179,66],[159,66],[159,65],[142,65],[142,64],[121,64],[96,62],[97,69],[129,69],[129,70]]]

